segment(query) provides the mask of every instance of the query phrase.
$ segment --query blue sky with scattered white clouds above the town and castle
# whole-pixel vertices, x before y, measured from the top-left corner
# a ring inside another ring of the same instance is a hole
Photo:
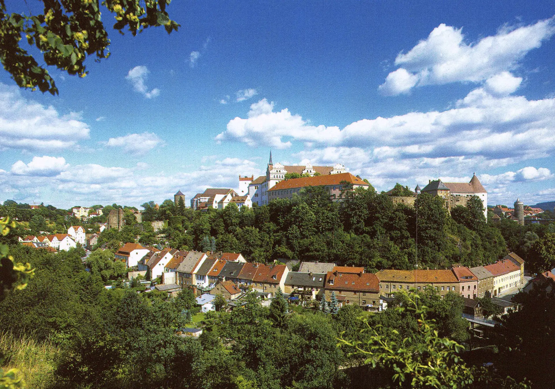
[[[83,79],[49,68],[57,97],[0,72],[0,201],[189,199],[264,174],[270,148],[284,164],[343,163],[378,190],[476,172],[492,205],[555,199],[553,2],[168,11],[181,24],[169,36],[108,29],[112,55]]]

